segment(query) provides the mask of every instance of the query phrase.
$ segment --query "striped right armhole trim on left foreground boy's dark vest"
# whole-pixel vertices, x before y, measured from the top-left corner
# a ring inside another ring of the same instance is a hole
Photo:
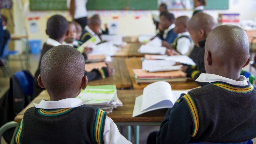
[[[94,125],[94,140],[97,144],[102,144],[103,138],[101,137],[102,135],[102,127],[103,126],[103,120],[105,116],[105,111],[98,109],[97,111],[97,117]]]

